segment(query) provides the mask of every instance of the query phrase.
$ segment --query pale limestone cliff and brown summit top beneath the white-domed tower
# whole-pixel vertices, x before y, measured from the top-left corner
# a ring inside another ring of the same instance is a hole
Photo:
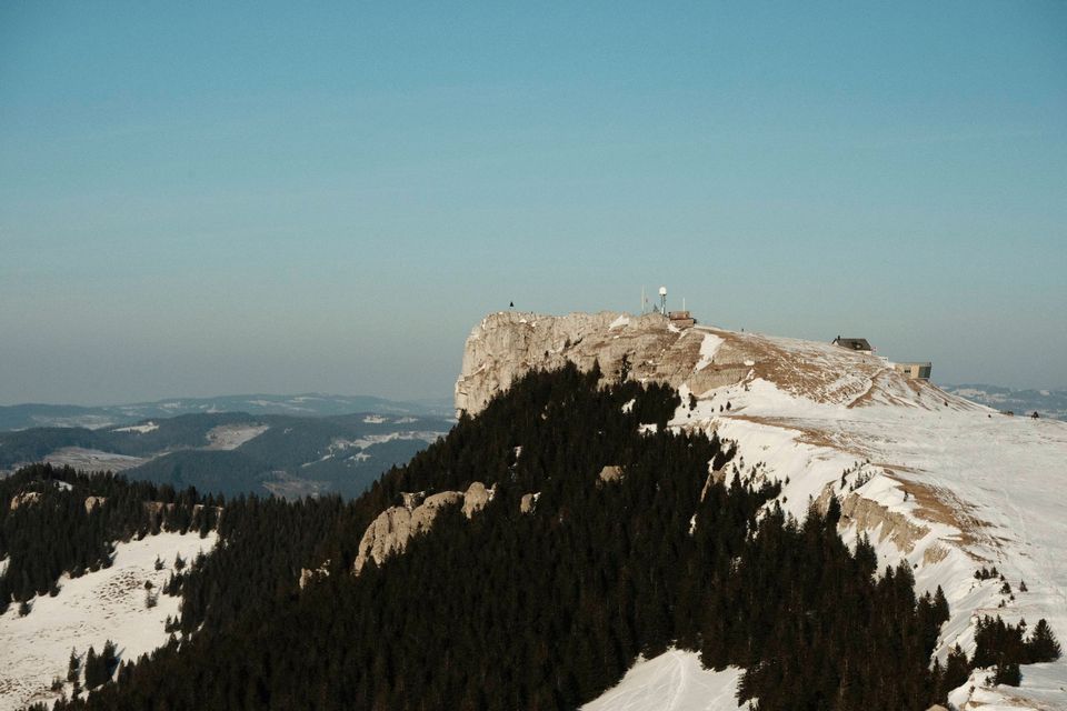
[[[658,313],[615,311],[542,316],[492,313],[471,330],[456,381],[456,410],[480,412],[530,370],[600,363],[605,382],[621,378],[686,385],[700,395],[754,379],[817,402],[862,407],[876,402],[927,409],[976,405],[925,381],[909,381],[869,354],[816,341],[678,328]],[[848,372],[849,378],[841,378]]]

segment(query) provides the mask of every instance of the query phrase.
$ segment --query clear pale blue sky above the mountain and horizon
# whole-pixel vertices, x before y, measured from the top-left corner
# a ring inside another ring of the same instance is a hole
[[[0,3],[0,404],[447,397],[660,284],[1067,387],[1067,3]]]

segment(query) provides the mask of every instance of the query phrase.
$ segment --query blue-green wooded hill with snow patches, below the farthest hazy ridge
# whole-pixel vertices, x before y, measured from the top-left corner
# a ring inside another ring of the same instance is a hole
[[[266,405],[263,405],[266,407]],[[48,461],[236,495],[356,497],[451,429],[450,419],[381,412],[295,417],[220,412],[89,429],[0,432],[0,472]]]

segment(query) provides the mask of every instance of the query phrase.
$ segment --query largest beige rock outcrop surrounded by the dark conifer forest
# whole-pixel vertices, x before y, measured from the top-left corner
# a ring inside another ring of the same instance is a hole
[[[403,494],[403,505],[386,509],[378,514],[359,541],[353,565],[358,574],[373,560],[379,565],[393,553],[402,553],[412,537],[430,530],[433,520],[442,509],[462,504],[463,515],[468,519],[492,500],[493,490],[486,489],[480,481],[467,488],[467,491],[441,491],[429,497],[425,494]]]

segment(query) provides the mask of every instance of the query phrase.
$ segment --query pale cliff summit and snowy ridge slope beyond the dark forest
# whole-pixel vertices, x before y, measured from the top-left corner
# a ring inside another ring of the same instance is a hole
[[[1046,618],[1067,639],[1067,423],[999,414],[829,343],[619,317],[488,317],[468,340],[457,407],[477,411],[525,371],[566,361],[596,361],[608,379],[667,382],[682,395],[672,427],[736,441],[731,467],[788,480],[780,500],[798,518],[809,502],[837,497],[846,540],[866,533],[882,565],[905,558],[919,590],[941,585],[951,609],[936,652],[943,661],[957,642],[974,651],[981,614],[1025,618],[1030,628]],[[993,565],[1010,592],[1000,580],[975,579]],[[669,662],[649,660],[631,675],[670,677]],[[620,689],[649,683],[669,685],[625,680]],[[611,705],[590,708],[664,708],[628,707],[617,691],[608,692]],[[968,684],[953,701],[1067,709],[1067,659],[1024,667],[1020,688]],[[736,707],[724,697],[676,708]]]

